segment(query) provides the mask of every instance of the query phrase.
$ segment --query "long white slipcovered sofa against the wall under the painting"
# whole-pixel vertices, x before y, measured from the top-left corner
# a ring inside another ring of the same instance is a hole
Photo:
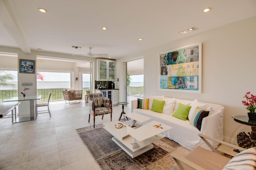
[[[151,111],[153,100],[164,100],[164,108],[162,113],[157,113],[155,111]],[[204,110],[209,111],[209,115],[202,119],[202,126],[199,130],[194,125],[190,124],[188,119],[181,120],[172,115],[178,108],[179,104],[190,105],[190,111],[194,111],[196,107],[203,108]],[[224,107],[218,104],[210,104],[204,102],[198,102],[197,100],[182,100],[175,98],[166,98],[164,96],[148,96],[148,108],[149,109],[139,109],[138,101],[132,101],[132,112],[138,113],[141,115],[145,115],[151,117],[149,121],[158,121],[160,123],[169,125],[172,129],[162,133],[169,139],[179,143],[183,147],[186,147],[190,150],[194,149],[196,146],[203,147],[205,149],[210,150],[210,148],[200,139],[198,136],[199,133],[213,137],[215,139],[223,140],[223,110]],[[219,145],[219,143],[210,141],[211,145],[215,148]]]

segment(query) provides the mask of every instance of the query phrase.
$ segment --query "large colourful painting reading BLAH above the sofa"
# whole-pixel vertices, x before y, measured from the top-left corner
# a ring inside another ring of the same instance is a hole
[[[201,93],[202,43],[159,53],[160,90]]]

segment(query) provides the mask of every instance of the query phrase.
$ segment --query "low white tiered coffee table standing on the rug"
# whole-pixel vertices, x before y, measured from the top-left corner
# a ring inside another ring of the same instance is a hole
[[[127,117],[128,116],[129,115],[127,115]],[[144,118],[148,119],[148,117],[146,116]],[[140,122],[141,121],[143,120],[140,120]],[[124,127],[120,129],[115,128],[115,125],[118,125],[118,123],[122,123]],[[160,127],[162,128],[154,127],[154,125],[160,124]],[[172,127],[164,125],[157,121],[152,121],[143,126],[138,125],[136,127],[130,127],[127,121],[120,122],[118,120],[104,123],[104,125],[105,126],[103,128],[114,136],[112,137],[112,140],[132,158],[135,158],[136,156],[154,148],[154,145],[152,145],[152,143],[165,137],[161,133],[172,129]],[[132,148],[131,143],[135,141],[139,145],[138,148]]]

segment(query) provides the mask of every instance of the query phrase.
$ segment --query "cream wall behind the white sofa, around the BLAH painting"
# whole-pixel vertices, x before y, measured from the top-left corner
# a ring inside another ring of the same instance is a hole
[[[200,28],[199,28],[200,29]],[[236,143],[241,131],[251,131],[249,126],[236,123],[231,115],[247,115],[242,105],[243,96],[250,91],[256,94],[256,16],[222,27],[172,41],[117,60],[117,78],[123,80],[122,63],[144,56],[144,97],[167,97],[221,104],[224,109],[224,140]],[[158,53],[202,42],[202,93],[159,90]],[[124,100],[123,82],[120,101]],[[212,127],[214,128],[214,127]]]

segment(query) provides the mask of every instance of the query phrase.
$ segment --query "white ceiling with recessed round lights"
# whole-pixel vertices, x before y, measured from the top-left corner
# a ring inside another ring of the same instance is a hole
[[[118,59],[256,16],[255,8],[256,0],[0,0],[0,46],[70,55],[94,47]]]

